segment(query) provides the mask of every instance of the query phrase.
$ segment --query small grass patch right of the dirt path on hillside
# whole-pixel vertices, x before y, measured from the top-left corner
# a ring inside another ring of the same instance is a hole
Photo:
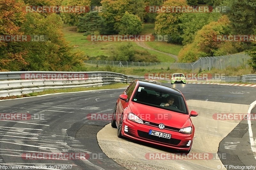
[[[150,48],[174,55],[178,55],[183,47],[182,45],[171,44],[164,41],[147,41],[145,44]]]

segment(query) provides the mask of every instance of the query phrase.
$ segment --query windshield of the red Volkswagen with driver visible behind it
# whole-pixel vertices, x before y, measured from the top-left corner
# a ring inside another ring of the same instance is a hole
[[[182,114],[188,114],[187,107],[182,95],[178,95],[171,91],[159,91],[150,87],[139,86],[132,98],[132,101],[140,104],[171,110],[174,112],[179,112]]]

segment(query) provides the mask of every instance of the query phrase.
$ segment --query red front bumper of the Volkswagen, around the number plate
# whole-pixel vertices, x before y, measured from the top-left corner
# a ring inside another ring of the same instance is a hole
[[[149,130],[155,130],[167,134],[171,134],[171,139],[149,135]],[[172,149],[188,151],[191,148],[194,134],[182,134],[177,131],[159,129],[158,127],[147,124],[139,124],[126,119],[122,126],[122,135],[134,140],[156,144]]]

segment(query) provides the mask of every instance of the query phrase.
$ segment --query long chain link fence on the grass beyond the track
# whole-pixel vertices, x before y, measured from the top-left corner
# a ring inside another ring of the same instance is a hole
[[[223,55],[215,57],[200,57],[193,63],[150,63],[150,62],[130,62],[130,61],[110,61],[110,60],[86,60],[84,63],[93,65],[109,65],[117,67],[155,67],[163,68],[170,67],[170,69],[182,70],[211,70],[225,69],[227,66],[247,66],[247,61],[250,56],[245,54]]]

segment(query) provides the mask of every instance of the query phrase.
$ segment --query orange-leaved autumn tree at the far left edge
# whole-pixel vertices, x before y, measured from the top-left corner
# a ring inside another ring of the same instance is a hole
[[[20,24],[24,21],[22,7],[25,4],[17,0],[0,0],[0,35],[22,35]],[[16,47],[20,42],[0,41],[0,70],[22,70],[27,62],[26,51]]]

